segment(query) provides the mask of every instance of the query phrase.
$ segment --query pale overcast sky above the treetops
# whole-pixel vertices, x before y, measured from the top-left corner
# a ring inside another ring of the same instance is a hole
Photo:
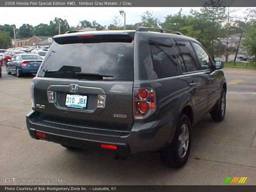
[[[200,7],[183,7],[182,14],[188,14],[190,9],[200,10]],[[242,16],[246,8],[235,14]],[[15,24],[19,28],[23,23],[36,26],[40,23],[49,24],[55,17],[66,19],[70,26],[76,26],[81,20],[96,20],[102,26],[113,22],[115,16],[123,18],[119,11],[126,12],[126,24],[140,22],[143,12],[153,12],[161,22],[169,14],[176,14],[180,7],[6,7],[0,11],[0,25]]]

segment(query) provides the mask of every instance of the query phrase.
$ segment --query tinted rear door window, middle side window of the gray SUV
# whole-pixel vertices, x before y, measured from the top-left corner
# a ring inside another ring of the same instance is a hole
[[[196,63],[196,54],[190,42],[180,40],[176,42],[180,48],[187,72],[199,70]]]

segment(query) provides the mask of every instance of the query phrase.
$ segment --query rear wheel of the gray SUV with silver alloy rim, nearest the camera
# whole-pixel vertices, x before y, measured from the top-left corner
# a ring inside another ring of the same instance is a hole
[[[172,143],[160,151],[161,160],[167,167],[180,168],[186,164],[191,145],[191,127],[188,116],[182,114]]]

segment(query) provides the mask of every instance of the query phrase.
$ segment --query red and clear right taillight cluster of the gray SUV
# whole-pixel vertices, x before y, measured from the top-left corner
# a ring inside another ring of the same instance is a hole
[[[134,88],[134,118],[143,119],[151,115],[156,108],[156,96],[151,88]]]

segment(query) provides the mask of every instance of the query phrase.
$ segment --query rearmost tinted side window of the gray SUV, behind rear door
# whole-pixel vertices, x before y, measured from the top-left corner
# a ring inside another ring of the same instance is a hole
[[[153,69],[157,77],[165,78],[180,74],[177,50],[169,38],[150,38],[149,49]]]

